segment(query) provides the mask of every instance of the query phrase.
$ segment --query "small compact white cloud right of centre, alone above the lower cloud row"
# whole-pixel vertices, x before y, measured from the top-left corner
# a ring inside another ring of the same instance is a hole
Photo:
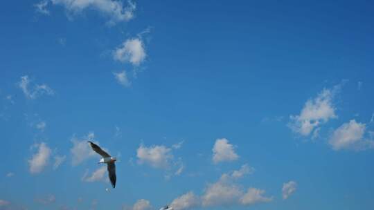
[[[226,139],[217,139],[213,146],[213,162],[227,162],[237,160],[239,156],[235,153],[233,145]]]

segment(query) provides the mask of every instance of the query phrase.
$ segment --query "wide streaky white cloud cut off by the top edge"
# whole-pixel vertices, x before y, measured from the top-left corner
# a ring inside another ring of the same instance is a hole
[[[64,6],[70,15],[77,15],[83,10],[93,9],[101,14],[109,17],[109,25],[121,21],[130,21],[134,18],[134,11],[136,4],[132,1],[127,1],[127,6],[124,7],[122,1],[114,0],[51,0],[53,5]]]

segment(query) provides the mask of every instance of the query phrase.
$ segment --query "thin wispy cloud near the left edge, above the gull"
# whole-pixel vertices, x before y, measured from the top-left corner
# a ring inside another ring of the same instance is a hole
[[[28,76],[22,76],[21,81],[18,83],[19,88],[21,88],[22,92],[28,99],[36,99],[41,95],[54,95],[55,92],[49,88],[46,84],[35,84],[33,88],[30,88],[30,79]]]

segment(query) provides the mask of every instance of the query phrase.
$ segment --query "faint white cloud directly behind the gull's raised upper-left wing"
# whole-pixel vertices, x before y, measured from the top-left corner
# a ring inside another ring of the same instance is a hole
[[[76,166],[84,160],[88,160],[89,158],[93,158],[97,155],[87,144],[87,141],[93,141],[95,134],[93,132],[89,133],[87,136],[83,137],[82,140],[78,140],[78,138],[73,137],[71,142],[73,142],[73,147],[70,149],[71,154],[73,155],[71,161],[73,166]]]

